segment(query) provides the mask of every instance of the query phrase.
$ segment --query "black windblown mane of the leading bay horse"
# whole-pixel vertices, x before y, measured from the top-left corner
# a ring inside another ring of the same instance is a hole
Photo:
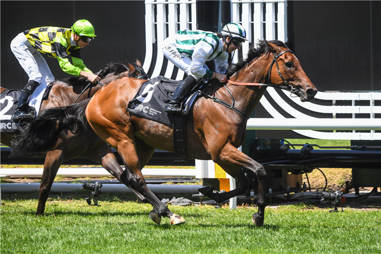
[[[273,40],[268,42],[275,44],[276,46],[288,48],[282,41]],[[241,60],[237,63],[232,63],[229,66],[227,70],[228,78],[230,78],[234,73],[242,70],[242,68],[248,65],[252,60],[257,59],[261,55],[268,54],[269,52],[270,52],[270,48],[267,46],[266,40],[258,40],[257,47],[255,46],[249,47],[249,51],[247,53],[246,59]]]

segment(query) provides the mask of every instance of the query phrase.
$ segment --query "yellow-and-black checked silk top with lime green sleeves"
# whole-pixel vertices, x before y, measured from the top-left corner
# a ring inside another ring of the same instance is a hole
[[[79,76],[81,71],[92,73],[81,59],[81,48],[70,45],[71,33],[71,29],[61,27],[36,27],[24,31],[31,46],[58,59],[62,71],[74,76]],[[72,56],[73,65],[69,62],[69,55]]]

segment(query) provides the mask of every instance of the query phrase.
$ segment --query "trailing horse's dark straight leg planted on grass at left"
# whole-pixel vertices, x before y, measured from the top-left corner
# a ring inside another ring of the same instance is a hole
[[[42,173],[42,179],[39,188],[39,204],[37,207],[36,216],[44,214],[45,204],[48,200],[50,189],[62,162],[63,152],[61,150],[53,150],[46,153],[44,172]]]

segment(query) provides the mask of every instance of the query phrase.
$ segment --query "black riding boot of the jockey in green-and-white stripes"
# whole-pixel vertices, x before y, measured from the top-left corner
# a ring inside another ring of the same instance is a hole
[[[172,100],[165,107],[164,111],[170,114],[177,114],[181,112],[181,101],[184,99],[187,91],[195,86],[196,79],[192,76],[186,77],[176,88],[175,94],[173,94]]]

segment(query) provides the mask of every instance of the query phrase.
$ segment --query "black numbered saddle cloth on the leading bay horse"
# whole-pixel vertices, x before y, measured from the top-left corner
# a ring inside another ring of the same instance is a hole
[[[144,118],[160,122],[172,127],[172,114],[167,114],[164,108],[173,97],[175,85],[180,81],[170,80],[162,76],[144,82],[133,100],[129,102],[127,110]],[[198,92],[194,92],[185,99],[185,110],[189,112]]]

